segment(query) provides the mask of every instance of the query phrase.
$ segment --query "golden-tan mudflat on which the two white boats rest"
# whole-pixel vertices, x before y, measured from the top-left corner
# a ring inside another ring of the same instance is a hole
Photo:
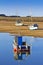
[[[15,26],[17,20],[21,20],[24,25],[27,26]],[[43,21],[28,21],[29,19],[21,18],[0,18],[0,32],[10,33],[14,35],[21,36],[34,36],[34,37],[43,37]],[[43,19],[43,18],[42,18]],[[29,30],[28,26],[38,24],[38,30]]]

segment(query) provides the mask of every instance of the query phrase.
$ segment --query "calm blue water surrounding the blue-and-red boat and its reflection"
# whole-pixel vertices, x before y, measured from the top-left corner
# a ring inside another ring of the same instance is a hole
[[[43,65],[43,38],[23,37],[31,45],[31,54],[20,62],[13,57],[13,40],[14,36],[0,33],[0,65]]]

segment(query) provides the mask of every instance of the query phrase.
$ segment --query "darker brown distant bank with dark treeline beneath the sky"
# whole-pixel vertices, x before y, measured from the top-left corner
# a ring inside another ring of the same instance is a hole
[[[0,21],[17,21],[21,20],[24,22],[43,22],[43,17],[21,17],[21,16],[6,16],[6,15],[0,15]]]

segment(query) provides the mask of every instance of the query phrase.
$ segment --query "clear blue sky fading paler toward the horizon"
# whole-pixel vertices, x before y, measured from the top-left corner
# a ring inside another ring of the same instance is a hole
[[[43,16],[43,0],[0,0],[0,14]]]

